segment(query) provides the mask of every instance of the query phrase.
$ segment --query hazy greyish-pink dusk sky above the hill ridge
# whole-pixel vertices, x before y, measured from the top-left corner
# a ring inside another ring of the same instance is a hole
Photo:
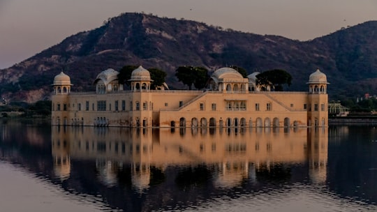
[[[133,12],[310,40],[377,20],[377,0],[0,0],[0,68]]]

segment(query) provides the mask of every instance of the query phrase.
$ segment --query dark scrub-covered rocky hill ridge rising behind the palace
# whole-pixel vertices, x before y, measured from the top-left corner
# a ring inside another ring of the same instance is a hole
[[[240,66],[249,73],[274,68],[292,76],[289,91],[306,91],[310,73],[327,75],[330,98],[374,93],[377,82],[377,22],[365,22],[300,42],[141,13],[124,13],[103,26],[64,39],[1,70],[1,97],[34,102],[50,96],[54,75],[71,76],[73,91],[92,91],[96,75],[126,65],[161,68],[170,86],[178,66]]]

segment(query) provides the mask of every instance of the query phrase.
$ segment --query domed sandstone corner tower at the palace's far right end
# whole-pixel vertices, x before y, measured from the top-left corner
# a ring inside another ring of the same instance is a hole
[[[308,126],[328,126],[327,77],[319,69],[309,76]]]

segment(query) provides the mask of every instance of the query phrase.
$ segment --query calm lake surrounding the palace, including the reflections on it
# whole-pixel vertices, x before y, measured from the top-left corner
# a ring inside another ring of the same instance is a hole
[[[0,122],[0,211],[376,211],[377,128]]]

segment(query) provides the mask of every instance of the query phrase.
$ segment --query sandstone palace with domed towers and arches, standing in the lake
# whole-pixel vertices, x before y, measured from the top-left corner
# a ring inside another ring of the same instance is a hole
[[[71,92],[71,79],[54,77],[52,125],[116,127],[325,127],[327,77],[320,70],[309,76],[307,92],[270,91],[256,84],[257,73],[242,77],[219,68],[207,90],[151,90],[149,71],[131,74],[131,89],[119,83],[113,69],[99,73],[96,91]]]

